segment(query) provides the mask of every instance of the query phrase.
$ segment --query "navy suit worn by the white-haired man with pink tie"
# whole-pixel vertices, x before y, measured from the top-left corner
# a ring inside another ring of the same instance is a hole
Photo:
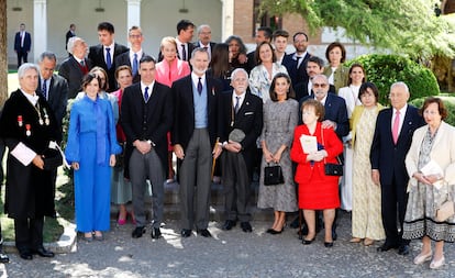
[[[378,114],[371,143],[370,162],[371,169],[379,170],[386,244],[396,247],[409,244],[409,241],[401,238],[408,202],[406,190],[409,181],[404,158],[411,147],[414,131],[422,126],[424,121],[415,107],[408,105],[397,144],[395,144],[391,132],[392,111],[393,109],[389,108]],[[397,229],[397,211],[401,226],[400,233]]]

